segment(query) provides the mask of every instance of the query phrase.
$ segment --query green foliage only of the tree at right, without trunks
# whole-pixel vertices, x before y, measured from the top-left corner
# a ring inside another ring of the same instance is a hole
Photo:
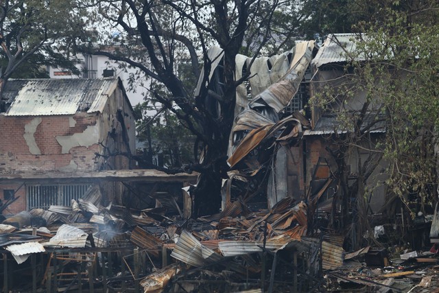
[[[381,1],[372,19],[354,26],[361,34],[355,37],[355,54],[346,55],[345,81],[328,85],[315,101],[347,117],[349,129],[358,123],[367,129],[359,120],[361,110],[355,114],[348,107],[366,93],[362,110],[379,113],[386,123],[385,139],[374,143],[373,152],[382,152],[388,162],[388,190],[403,200],[418,194],[429,205],[436,202],[437,186],[438,16],[437,1]],[[369,135],[355,131],[344,143],[356,146]]]

